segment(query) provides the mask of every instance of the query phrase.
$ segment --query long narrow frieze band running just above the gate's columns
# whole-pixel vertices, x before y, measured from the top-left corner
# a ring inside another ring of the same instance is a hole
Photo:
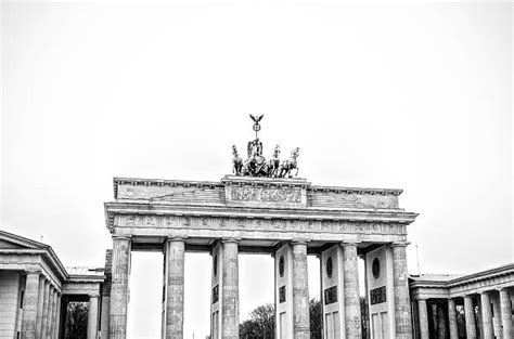
[[[367,223],[324,220],[285,220],[259,218],[215,218],[123,214],[116,218],[116,226],[121,227],[165,227],[198,230],[234,230],[266,232],[312,232],[336,234],[387,234],[404,235],[404,224]]]

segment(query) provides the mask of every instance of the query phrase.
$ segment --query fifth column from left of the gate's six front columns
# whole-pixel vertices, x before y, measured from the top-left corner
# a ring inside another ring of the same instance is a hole
[[[343,243],[343,291],[347,338],[362,336],[357,243]]]

